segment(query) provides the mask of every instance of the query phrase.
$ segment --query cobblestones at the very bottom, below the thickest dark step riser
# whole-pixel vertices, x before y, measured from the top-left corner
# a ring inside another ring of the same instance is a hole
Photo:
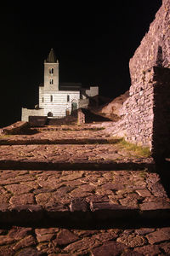
[[[170,228],[68,230],[13,226],[0,230],[0,255],[169,255]]]

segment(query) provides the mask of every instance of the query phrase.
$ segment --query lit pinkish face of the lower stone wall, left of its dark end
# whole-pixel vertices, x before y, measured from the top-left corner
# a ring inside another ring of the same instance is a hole
[[[127,141],[151,148],[153,133],[154,69],[145,72],[144,80],[130,87],[130,97],[123,105]]]

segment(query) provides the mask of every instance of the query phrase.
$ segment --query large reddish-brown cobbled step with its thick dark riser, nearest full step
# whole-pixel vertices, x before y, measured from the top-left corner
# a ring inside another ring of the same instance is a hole
[[[143,171],[0,171],[0,224],[68,227],[165,222],[170,200]]]

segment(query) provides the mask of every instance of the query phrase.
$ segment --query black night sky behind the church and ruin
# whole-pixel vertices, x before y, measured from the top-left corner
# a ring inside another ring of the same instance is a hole
[[[79,9],[51,6],[32,13],[25,7],[1,14],[0,127],[20,120],[21,107],[37,104],[51,48],[59,59],[60,82],[96,84],[100,95],[111,98],[128,90],[128,61],[161,0],[117,2],[100,9],[81,2]]]

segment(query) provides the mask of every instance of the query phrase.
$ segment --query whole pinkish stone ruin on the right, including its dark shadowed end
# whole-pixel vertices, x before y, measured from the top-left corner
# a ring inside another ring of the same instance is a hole
[[[156,19],[129,62],[131,86],[113,135],[150,147],[156,158],[170,153],[170,1],[162,0]]]

